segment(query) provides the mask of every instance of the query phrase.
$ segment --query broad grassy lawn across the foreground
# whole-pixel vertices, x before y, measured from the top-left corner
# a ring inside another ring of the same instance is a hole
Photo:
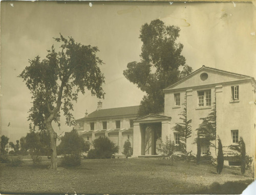
[[[218,175],[213,165],[176,161],[171,166],[164,159],[83,159],[76,168],[57,170],[47,169],[49,163],[44,160],[40,167],[33,167],[31,160],[19,167],[0,163],[0,192],[189,194],[229,186],[229,191],[216,193],[240,194],[253,181],[252,173],[241,176],[239,168],[224,167]]]

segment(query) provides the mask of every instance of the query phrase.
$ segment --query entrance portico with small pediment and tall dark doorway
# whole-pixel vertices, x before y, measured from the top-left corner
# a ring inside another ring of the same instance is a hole
[[[157,155],[160,140],[170,134],[170,117],[148,114],[134,120],[133,156]]]

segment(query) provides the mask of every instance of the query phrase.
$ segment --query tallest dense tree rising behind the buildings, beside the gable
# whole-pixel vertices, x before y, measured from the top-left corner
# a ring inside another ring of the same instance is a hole
[[[179,32],[179,27],[165,26],[159,19],[151,21],[149,25],[145,23],[140,29],[139,38],[143,42],[141,60],[128,63],[123,71],[126,79],[146,92],[141,101],[140,115],[162,112],[162,89],[192,71],[181,55],[183,45],[177,43]],[[182,71],[180,67],[183,67]]]

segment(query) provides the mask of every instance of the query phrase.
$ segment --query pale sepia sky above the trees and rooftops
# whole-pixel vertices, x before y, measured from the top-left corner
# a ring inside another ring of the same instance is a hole
[[[44,59],[53,37],[72,36],[97,46],[105,76],[104,108],[139,105],[144,92],[123,76],[140,60],[140,27],[154,19],[179,26],[182,55],[193,70],[202,65],[256,78],[256,22],[251,3],[1,2],[1,135],[10,141],[29,132],[31,94],[17,76],[37,55]],[[56,45],[56,44],[55,44]],[[76,119],[97,108],[90,92],[79,94]],[[8,124],[10,126],[8,127]],[[58,135],[71,131],[62,116]]]

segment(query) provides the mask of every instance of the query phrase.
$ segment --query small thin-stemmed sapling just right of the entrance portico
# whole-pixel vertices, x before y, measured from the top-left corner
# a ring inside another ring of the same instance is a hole
[[[160,149],[159,151],[167,156],[169,160],[172,160],[172,165],[173,165],[173,154],[175,153],[175,142],[170,140],[170,137],[168,136],[165,137],[165,143],[161,140],[160,143]]]

